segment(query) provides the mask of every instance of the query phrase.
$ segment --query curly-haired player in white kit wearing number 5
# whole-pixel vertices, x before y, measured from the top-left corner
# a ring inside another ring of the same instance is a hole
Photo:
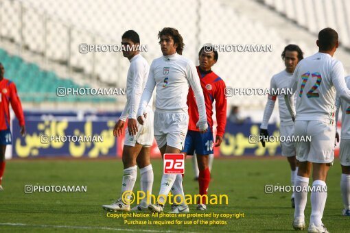
[[[165,27],[158,34],[159,44],[163,56],[153,60],[150,66],[150,75],[143,90],[138,121],[144,123],[143,112],[150,101],[156,87],[156,110],[154,112],[154,137],[162,156],[164,154],[178,154],[185,144],[185,136],[189,123],[187,94],[189,86],[194,90],[199,112],[197,127],[200,132],[207,131],[207,114],[205,112],[205,99],[200,86],[196,66],[189,59],[181,56],[183,51],[183,38],[177,29]],[[158,202],[148,207],[153,212],[162,212],[166,197],[174,182],[182,184],[181,174],[163,174]],[[174,212],[189,212],[185,204],[183,186],[178,186],[182,203]]]

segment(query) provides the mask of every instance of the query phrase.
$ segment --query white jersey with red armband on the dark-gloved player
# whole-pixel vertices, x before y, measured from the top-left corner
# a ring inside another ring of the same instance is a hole
[[[272,91],[279,90],[279,93],[288,93],[287,88],[292,80],[293,74],[288,73],[283,70],[276,75],[273,75],[270,82],[270,93]],[[270,120],[270,116],[272,114],[273,108],[275,107],[276,99],[279,100],[279,119],[281,125],[294,125],[292,117],[288,111],[287,105],[285,104],[284,95],[269,95],[268,103],[266,103],[266,108],[264,110],[264,118],[261,123],[261,129],[267,129],[268,121]],[[292,103],[293,104],[293,103]],[[294,104],[292,106],[294,109]]]

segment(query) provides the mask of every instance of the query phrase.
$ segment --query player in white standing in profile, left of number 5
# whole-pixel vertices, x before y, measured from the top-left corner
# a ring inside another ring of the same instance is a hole
[[[126,79],[126,106],[115,124],[114,136],[121,136],[124,124],[128,118],[122,160],[124,175],[121,184],[121,197],[125,191],[132,191],[137,177],[137,165],[141,174],[141,191],[152,193],[153,169],[150,163],[150,147],[153,143],[153,112],[152,101],[145,106],[144,114],[147,115],[145,123],[137,123],[137,110],[143,88],[148,77],[148,62],[139,54],[140,38],[137,32],[129,30],[121,36],[123,55],[130,61],[128,76]],[[136,165],[137,164],[137,165]],[[125,197],[130,199],[130,196]],[[104,205],[102,208],[108,211],[130,211],[130,204],[126,199],[117,199],[113,204]],[[134,211],[148,210],[148,200],[143,199]]]

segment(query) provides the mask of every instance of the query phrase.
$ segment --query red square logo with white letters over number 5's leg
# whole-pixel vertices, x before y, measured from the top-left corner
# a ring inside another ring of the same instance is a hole
[[[184,154],[164,154],[163,164],[164,164],[164,174],[185,173],[185,155]]]

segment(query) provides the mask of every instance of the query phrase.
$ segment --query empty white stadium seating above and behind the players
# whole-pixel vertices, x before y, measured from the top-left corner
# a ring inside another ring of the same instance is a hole
[[[323,23],[319,23],[313,14],[319,14],[323,4],[305,2],[316,5],[317,10],[306,15],[301,11],[305,8],[304,3],[292,0],[1,0],[0,22],[3,27],[0,28],[0,47],[1,41],[16,45],[12,53],[30,62],[32,56],[26,54],[35,54],[43,58],[36,62],[38,66],[45,69],[49,66],[48,70],[55,71],[60,77],[71,77],[77,84],[121,88],[126,86],[128,60],[121,53],[82,54],[79,45],[119,45],[121,34],[127,29],[135,29],[140,34],[141,43],[148,46],[143,56],[151,62],[161,56],[156,37],[159,30],[176,27],[185,40],[183,55],[197,64],[198,50],[208,42],[216,45],[273,45],[272,52],[220,52],[218,64],[214,66],[226,86],[268,88],[270,77],[283,69],[280,55],[285,45],[295,43],[303,49],[305,56],[309,56],[316,52],[314,32],[326,25],[338,29],[336,26],[340,21],[344,26],[339,26],[342,42],[346,45],[349,40],[347,36],[343,38],[342,33],[345,30],[342,28],[348,27],[344,14],[331,16],[334,13],[327,9],[330,15],[327,20],[320,19]],[[336,2],[334,7],[342,8],[341,4],[345,4],[346,9],[349,8],[350,3],[346,1]],[[261,9],[261,3],[268,8]],[[244,10],[247,7],[250,10]],[[138,9],[139,14],[131,14],[130,9]],[[163,9],[167,9],[166,12]],[[251,14],[251,9],[256,14]],[[265,21],[261,21],[262,14],[266,16]],[[266,23],[271,19],[273,22]],[[336,56],[340,55],[341,52]],[[349,52],[339,57],[340,60],[348,58]],[[60,64],[59,69],[54,64]],[[125,98],[118,101],[122,104]],[[242,110],[261,110],[266,97],[237,95],[228,98],[228,102],[229,105],[241,106]]]

